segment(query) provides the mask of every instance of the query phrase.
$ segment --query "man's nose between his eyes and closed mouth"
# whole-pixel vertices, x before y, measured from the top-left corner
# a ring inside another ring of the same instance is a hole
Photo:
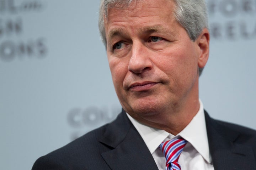
[[[140,42],[133,43],[128,70],[140,74],[153,68],[148,48]]]

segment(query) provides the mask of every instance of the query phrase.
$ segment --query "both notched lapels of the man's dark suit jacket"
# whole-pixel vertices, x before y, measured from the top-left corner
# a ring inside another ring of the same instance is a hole
[[[209,117],[205,111],[210,154],[215,170],[256,169],[254,151],[238,141],[240,132],[231,125]],[[157,165],[142,137],[122,111],[109,124],[100,139],[111,150],[101,155],[111,169],[157,170]]]

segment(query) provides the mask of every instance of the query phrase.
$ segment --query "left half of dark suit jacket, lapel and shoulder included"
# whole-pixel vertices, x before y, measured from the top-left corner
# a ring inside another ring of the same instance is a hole
[[[158,169],[142,137],[122,111],[112,123],[38,158],[32,170],[144,168]]]

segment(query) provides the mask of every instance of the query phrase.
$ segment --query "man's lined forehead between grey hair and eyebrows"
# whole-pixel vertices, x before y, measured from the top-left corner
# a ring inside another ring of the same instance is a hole
[[[109,27],[113,26],[122,26],[122,24],[127,26],[127,23],[128,26],[137,24],[143,25],[142,27],[150,24],[161,25],[162,20],[171,23],[174,20],[174,8],[172,0],[133,1],[129,6],[110,7],[107,10],[108,15],[104,18],[105,31],[107,33]]]

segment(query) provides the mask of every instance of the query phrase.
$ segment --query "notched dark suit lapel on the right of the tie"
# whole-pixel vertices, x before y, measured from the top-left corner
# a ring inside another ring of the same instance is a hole
[[[210,154],[215,170],[256,169],[251,147],[235,141],[239,132],[224,126],[205,112]]]

